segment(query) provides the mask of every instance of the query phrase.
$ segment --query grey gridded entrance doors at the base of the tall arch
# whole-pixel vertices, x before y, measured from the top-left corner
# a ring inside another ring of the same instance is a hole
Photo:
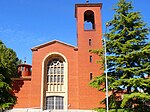
[[[62,96],[48,96],[46,97],[46,110],[63,110],[64,97]]]

